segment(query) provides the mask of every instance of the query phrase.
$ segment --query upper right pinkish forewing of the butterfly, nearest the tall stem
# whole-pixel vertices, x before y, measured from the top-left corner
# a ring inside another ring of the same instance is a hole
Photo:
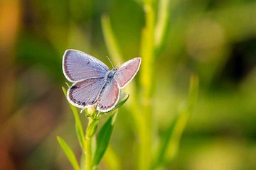
[[[117,69],[117,72],[114,74],[114,79],[117,80],[120,88],[123,88],[129,83],[129,81],[132,81],[134,76],[137,74],[141,63],[142,58],[137,57],[124,62],[124,64]]]

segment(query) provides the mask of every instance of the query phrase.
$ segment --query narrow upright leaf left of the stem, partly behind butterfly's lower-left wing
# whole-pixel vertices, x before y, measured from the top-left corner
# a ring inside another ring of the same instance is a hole
[[[63,88],[63,93],[65,94],[65,96],[67,96],[67,90],[65,89],[65,87]],[[73,106],[72,104],[70,104],[70,108],[73,112],[74,118],[75,118],[75,132],[77,133],[78,136],[78,141],[80,143],[80,146],[82,147],[82,149],[85,149],[85,133],[82,130],[82,123],[79,117],[79,113],[78,113],[78,109],[75,108],[75,106]]]

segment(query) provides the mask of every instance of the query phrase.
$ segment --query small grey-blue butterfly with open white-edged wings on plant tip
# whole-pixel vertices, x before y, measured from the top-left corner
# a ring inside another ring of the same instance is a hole
[[[111,111],[124,88],[139,71],[142,58],[124,62],[119,68],[109,69],[97,58],[78,50],[66,50],[63,73],[73,85],[67,91],[68,101],[78,108],[95,106],[97,111]]]

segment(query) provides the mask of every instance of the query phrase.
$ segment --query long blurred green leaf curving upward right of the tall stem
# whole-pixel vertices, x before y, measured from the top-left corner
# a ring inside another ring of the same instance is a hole
[[[188,118],[193,112],[193,108],[196,104],[196,98],[198,95],[198,77],[193,75],[190,81],[190,88],[188,94],[188,104],[181,111],[181,113],[174,119],[173,123],[167,128],[164,139],[161,142],[159,152],[156,157],[156,161],[151,166],[152,169],[163,166],[170,162],[176,156],[178,152],[179,142],[181,135],[186,127]]]

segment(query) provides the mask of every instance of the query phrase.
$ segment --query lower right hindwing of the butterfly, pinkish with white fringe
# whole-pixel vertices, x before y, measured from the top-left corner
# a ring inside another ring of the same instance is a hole
[[[120,89],[117,81],[110,79],[107,81],[102,91],[100,92],[99,103],[97,104],[100,112],[112,110],[119,99]]]

